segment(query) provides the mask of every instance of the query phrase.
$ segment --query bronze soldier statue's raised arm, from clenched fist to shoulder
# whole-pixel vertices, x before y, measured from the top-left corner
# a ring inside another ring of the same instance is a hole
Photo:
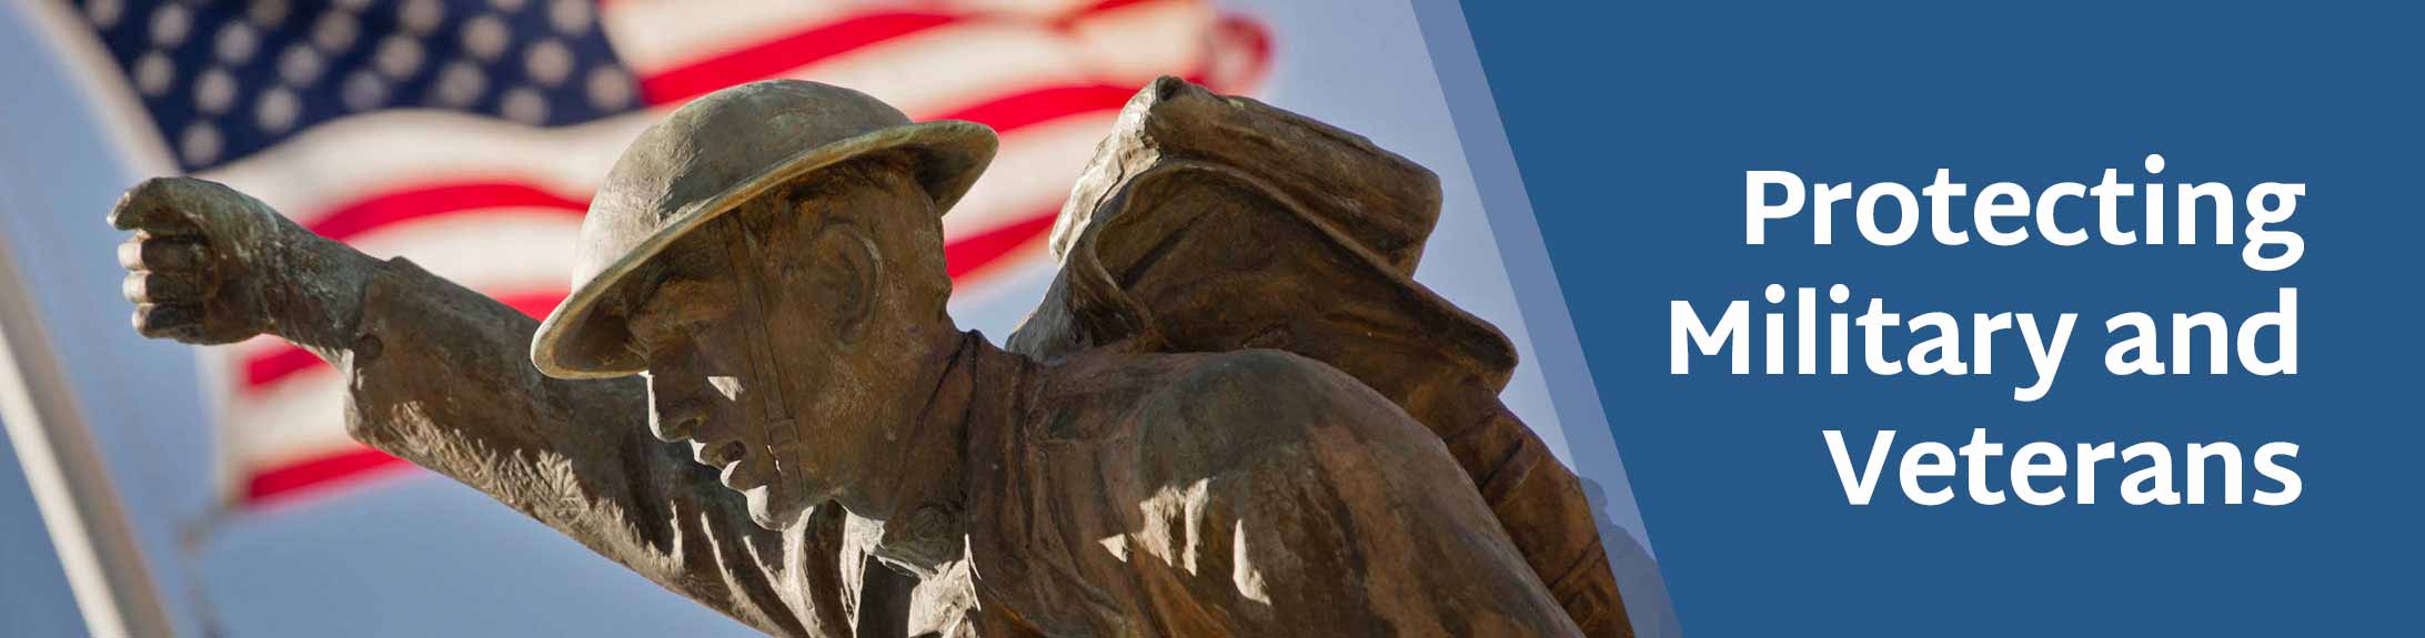
[[[347,376],[347,427],[364,444],[761,631],[849,636],[839,512],[759,529],[713,471],[647,434],[638,381],[541,376],[526,357],[536,320],[213,182],[143,182],[112,223],[136,230],[119,260],[146,337],[279,335]]]

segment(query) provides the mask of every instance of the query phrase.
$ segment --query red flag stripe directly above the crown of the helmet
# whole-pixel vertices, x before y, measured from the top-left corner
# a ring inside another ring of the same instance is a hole
[[[732,49],[640,78],[640,99],[647,99],[650,104],[672,104],[963,19],[965,17],[938,12],[871,12],[844,17],[808,32]]]

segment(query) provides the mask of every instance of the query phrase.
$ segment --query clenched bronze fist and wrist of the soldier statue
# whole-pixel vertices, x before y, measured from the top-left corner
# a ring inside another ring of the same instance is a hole
[[[259,199],[192,177],[136,184],[109,226],[136,233],[119,245],[136,332],[189,344],[332,337],[376,267]]]

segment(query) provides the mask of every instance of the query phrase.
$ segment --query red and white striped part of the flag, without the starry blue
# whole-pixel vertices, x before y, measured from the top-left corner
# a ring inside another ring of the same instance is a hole
[[[749,15],[749,17],[737,17]],[[866,90],[917,119],[994,126],[1002,160],[946,223],[946,272],[975,279],[1040,262],[1067,180],[1154,75],[1249,90],[1268,44],[1227,29],[1191,0],[951,0],[907,10],[686,0],[604,5],[614,58],[630,70],[633,112],[572,126],[519,126],[497,114],[398,107],[349,114],[247,153],[209,175],[247,189],[306,228],[432,272],[526,313],[563,298],[558,247],[577,233],[606,167],[647,124],[686,99],[769,78]],[[737,46],[735,46],[737,44]],[[638,56],[635,56],[638,53]],[[1222,56],[1232,53],[1232,56]],[[1249,70],[1249,73],[1239,73]],[[378,148],[378,153],[364,153]],[[546,245],[534,245],[546,243]],[[407,468],[344,437],[344,383],[318,357],[274,337],[223,349],[228,495],[255,507],[364,473]]]

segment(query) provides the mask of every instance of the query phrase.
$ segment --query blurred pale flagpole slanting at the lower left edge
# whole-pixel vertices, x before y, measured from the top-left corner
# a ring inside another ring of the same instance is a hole
[[[90,636],[170,636],[133,526],[119,507],[68,374],[41,330],[17,255],[0,233],[0,422],[68,573]]]

